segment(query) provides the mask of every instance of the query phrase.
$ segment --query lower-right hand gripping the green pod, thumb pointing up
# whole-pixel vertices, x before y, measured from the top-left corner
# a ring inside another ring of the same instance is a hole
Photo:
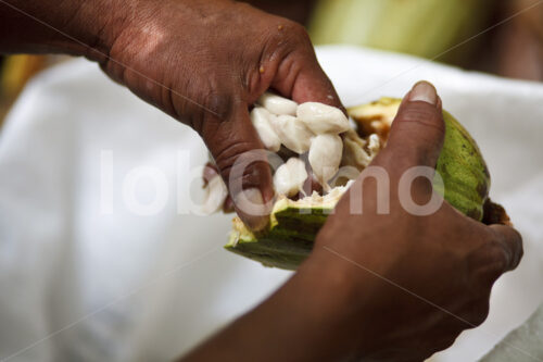
[[[417,204],[439,199],[433,175],[415,178],[411,191],[399,184],[412,167],[435,167],[443,136],[441,100],[420,83],[406,96],[387,147],[338,203],[299,271],[334,280],[323,298],[336,299],[325,304],[339,311],[330,337],[343,350],[338,354],[420,361],[445,349],[485,320],[493,283],[520,261],[521,237],[509,226],[483,225],[446,202],[424,216],[403,207],[402,191]],[[379,214],[388,201],[383,172],[390,212]],[[353,213],[358,205],[362,212]]]

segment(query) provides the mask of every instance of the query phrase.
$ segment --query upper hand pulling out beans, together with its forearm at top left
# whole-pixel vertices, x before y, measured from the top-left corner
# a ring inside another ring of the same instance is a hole
[[[268,88],[299,103],[341,108],[304,28],[242,2],[8,0],[0,24],[13,35],[0,38],[0,52],[85,55],[195,129],[226,184],[236,185],[229,190],[236,211],[254,230],[269,220],[269,166],[253,158],[230,177],[241,154],[264,149],[249,108]]]

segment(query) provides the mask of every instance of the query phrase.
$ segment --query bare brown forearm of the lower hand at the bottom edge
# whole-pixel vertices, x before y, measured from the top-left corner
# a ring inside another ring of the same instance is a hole
[[[302,266],[264,303],[182,361],[344,361],[359,357],[358,315],[364,301],[339,269],[323,266],[313,262]]]

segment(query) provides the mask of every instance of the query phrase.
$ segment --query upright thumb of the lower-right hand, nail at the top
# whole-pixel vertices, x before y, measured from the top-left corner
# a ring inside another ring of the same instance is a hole
[[[401,171],[417,165],[435,167],[444,135],[441,99],[433,85],[419,82],[402,101],[381,153]]]

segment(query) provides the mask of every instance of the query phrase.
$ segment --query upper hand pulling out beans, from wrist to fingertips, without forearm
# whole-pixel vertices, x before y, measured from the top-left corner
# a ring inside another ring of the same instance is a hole
[[[249,109],[265,90],[341,107],[301,25],[226,0],[136,3],[102,68],[194,128],[227,185],[236,160],[264,148]],[[251,228],[263,228],[274,198],[269,165],[252,162],[236,177],[250,202],[267,203],[254,215],[235,194],[236,211]]]

